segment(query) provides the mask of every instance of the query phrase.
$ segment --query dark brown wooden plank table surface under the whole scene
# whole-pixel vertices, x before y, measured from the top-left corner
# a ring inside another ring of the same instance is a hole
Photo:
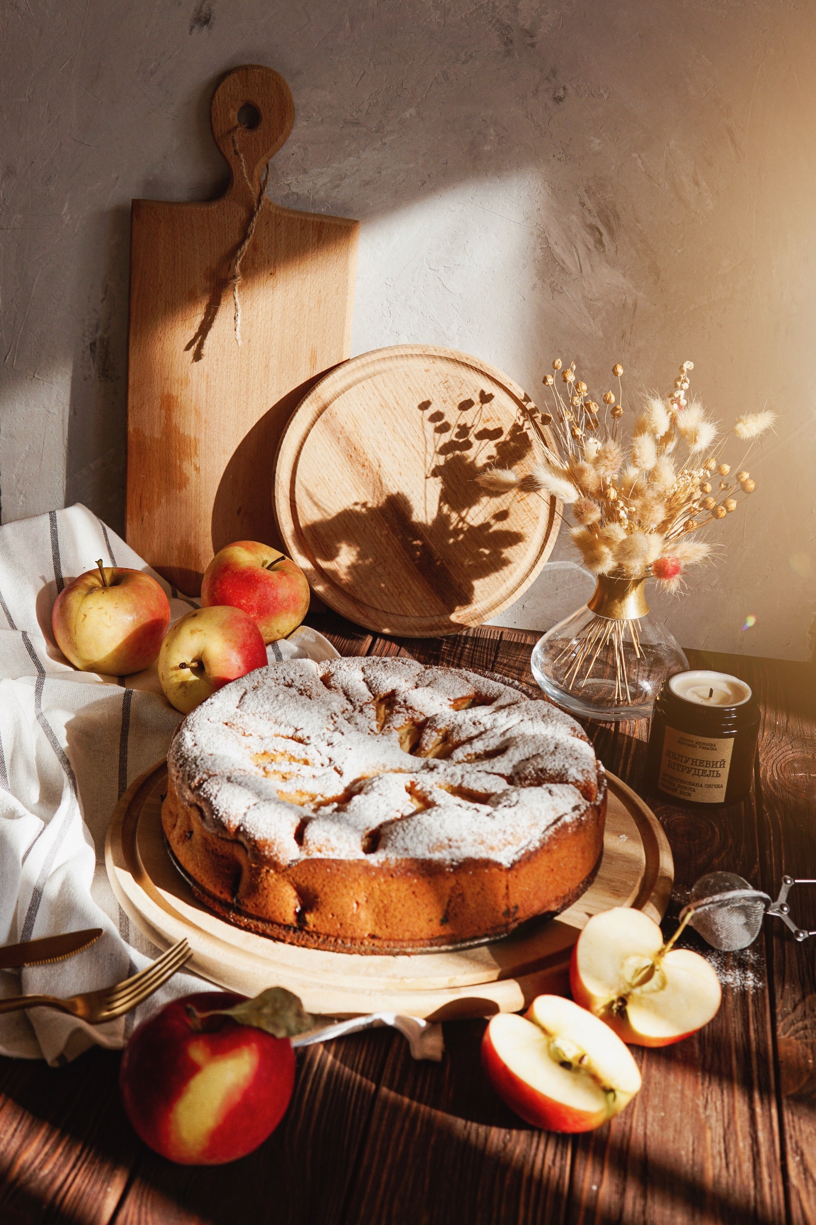
[[[316,619],[343,654],[406,654],[531,680],[533,635],[480,628],[391,639]],[[675,889],[666,921],[703,872],[727,869],[776,895],[784,872],[816,877],[814,668],[689,652],[691,666],[744,677],[762,706],[750,800],[711,813],[658,801],[642,784],[648,724],[588,728],[604,764],[666,829]],[[816,887],[792,894],[816,927]],[[694,932],[689,946],[705,948]],[[481,1071],[484,1022],[445,1024],[440,1065],[415,1063],[388,1030],[299,1055],[295,1096],[256,1153],[220,1167],[174,1166],[131,1131],[119,1056],[65,1068],[0,1060],[0,1221],[65,1225],[469,1225],[816,1223],[816,938],[768,919],[756,943],[710,956],[723,1005],[700,1034],[634,1049],[644,1087],[610,1125],[540,1132]]]

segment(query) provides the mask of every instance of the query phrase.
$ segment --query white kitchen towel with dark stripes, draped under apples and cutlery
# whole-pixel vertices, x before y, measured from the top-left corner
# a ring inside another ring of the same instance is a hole
[[[117,799],[166,753],[181,715],[161,693],[155,665],[120,679],[78,673],[56,647],[54,600],[98,557],[153,575],[174,621],[197,606],[84,506],[0,527],[0,943],[104,931],[65,962],[0,971],[0,998],[94,990],[159,954],[114,897],[105,833]],[[335,654],[305,626],[268,649],[270,663]],[[0,1052],[61,1063],[93,1042],[119,1047],[155,1008],[202,986],[177,974],[135,1013],[106,1025],[46,1008],[0,1016]]]

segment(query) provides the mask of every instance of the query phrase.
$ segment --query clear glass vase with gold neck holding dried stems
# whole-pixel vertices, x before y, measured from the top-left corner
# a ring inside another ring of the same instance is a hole
[[[645,719],[667,676],[689,666],[650,615],[646,576],[598,576],[590,601],[536,643],[532,673],[547,697],[592,719]]]

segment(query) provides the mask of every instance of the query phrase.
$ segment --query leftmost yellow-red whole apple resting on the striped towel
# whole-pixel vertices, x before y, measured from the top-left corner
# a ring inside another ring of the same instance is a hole
[[[155,578],[138,570],[88,570],[64,587],[51,610],[56,644],[75,668],[130,676],[149,668],[170,625]]]

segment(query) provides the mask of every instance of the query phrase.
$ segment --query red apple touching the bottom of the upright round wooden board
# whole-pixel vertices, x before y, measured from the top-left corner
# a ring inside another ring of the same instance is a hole
[[[236,540],[220,549],[204,571],[202,608],[230,604],[256,621],[264,642],[296,630],[308,611],[306,575],[279,549]]]

